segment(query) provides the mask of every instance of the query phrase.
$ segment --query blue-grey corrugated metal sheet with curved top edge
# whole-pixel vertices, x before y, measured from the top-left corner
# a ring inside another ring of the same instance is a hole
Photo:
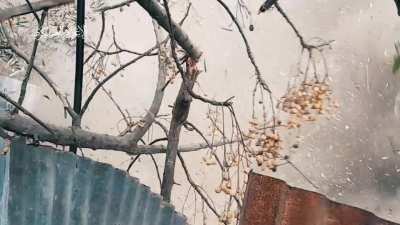
[[[1,225],[186,224],[159,195],[109,165],[21,141],[0,160],[0,168],[9,165]]]

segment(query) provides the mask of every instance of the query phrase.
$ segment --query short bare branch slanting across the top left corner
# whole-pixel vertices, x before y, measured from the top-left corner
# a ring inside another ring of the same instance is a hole
[[[54,8],[57,6],[73,2],[74,0],[41,0],[31,4],[33,11],[31,10],[31,7],[28,4],[16,6],[14,8],[2,9],[0,10],[0,22],[3,22],[5,20],[8,20],[16,16],[29,14],[43,9]]]

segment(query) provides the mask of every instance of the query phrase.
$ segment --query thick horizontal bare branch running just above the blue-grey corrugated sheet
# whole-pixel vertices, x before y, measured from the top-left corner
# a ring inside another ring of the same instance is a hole
[[[126,152],[131,155],[137,154],[160,154],[165,153],[167,147],[164,145],[135,145],[130,144],[129,139],[121,136],[99,134],[86,131],[80,128],[64,128],[44,123],[54,134],[49,133],[45,128],[38,125],[33,119],[10,113],[0,113],[0,127],[14,132],[21,136],[32,137],[37,141],[51,142],[55,145],[71,146],[93,150],[114,150]],[[230,142],[220,141],[212,144],[213,147],[229,144]],[[179,146],[179,152],[194,152],[208,148],[207,143],[197,143]]]

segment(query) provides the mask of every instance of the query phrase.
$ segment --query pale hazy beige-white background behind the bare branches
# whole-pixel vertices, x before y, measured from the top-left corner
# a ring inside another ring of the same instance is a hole
[[[216,1],[191,2],[192,10],[183,27],[204,52],[202,59],[206,61],[207,72],[199,77],[201,88],[209,97],[216,99],[235,96],[235,109],[245,128],[251,116],[254,77],[244,44],[235,29],[232,32],[222,29],[229,27],[231,20]],[[236,3],[233,0],[226,2],[232,7]],[[263,76],[271,85],[275,99],[278,99],[296,71],[300,45],[276,10],[256,15],[262,2],[248,1],[255,30],[250,32],[247,27],[244,28]],[[291,137],[303,136],[300,148],[292,152],[291,158],[320,187],[319,190],[314,190],[291,167],[280,167],[277,173],[270,175],[400,222],[400,155],[393,151],[389,141],[396,145],[397,140],[400,148],[400,117],[395,114],[399,107],[396,104],[400,104],[400,97],[396,97],[400,77],[391,73],[394,42],[400,36],[400,18],[394,2],[281,0],[280,4],[306,39],[320,37],[335,40],[333,49],[326,54],[330,82],[341,106],[335,118],[319,120],[288,135],[287,143],[293,141]],[[181,18],[187,2],[176,0],[172,5],[174,17]],[[93,12],[91,15],[94,15]],[[122,46],[144,51],[154,45],[151,19],[139,6],[132,4],[122,12],[113,10],[106,17],[105,38],[108,43],[112,38],[113,24]],[[94,21],[87,21],[88,38],[94,41],[100,31],[100,18],[95,18]],[[245,20],[246,26],[249,21]],[[32,43],[28,44],[27,53]],[[39,60],[46,62],[46,70],[51,77],[73,96],[74,48],[67,48],[62,43],[42,43],[38,55]],[[125,55],[121,59],[127,61],[131,57]],[[157,64],[156,57],[147,57],[106,85],[131,115],[143,115],[150,105]],[[69,121],[63,118],[61,105],[45,83],[38,76],[33,76],[32,84],[37,88],[35,92],[28,92],[35,93],[31,97],[36,99],[36,104],[31,109],[47,122],[68,126]],[[167,88],[161,114],[171,112],[167,106],[173,104],[178,87],[179,82],[175,82]],[[85,94],[89,91],[86,90]],[[51,100],[43,95],[50,96]],[[205,120],[206,110],[206,105],[194,101],[189,116],[189,120],[205,132],[209,125]],[[83,126],[91,131],[117,134],[116,124],[120,119],[109,99],[99,92],[84,117]],[[183,143],[199,141],[200,138],[188,132],[182,138]],[[85,150],[85,155],[121,169],[126,169],[130,159],[124,153],[113,151]],[[219,172],[216,167],[201,165],[201,156],[202,153],[184,155],[196,181],[214,196]],[[157,161],[162,165],[164,158],[157,156]],[[177,168],[176,182],[182,185],[174,187],[173,202],[177,210],[181,210],[188,185],[179,163]],[[142,157],[131,170],[131,175],[139,177],[153,191],[159,192],[150,157]],[[221,197],[216,199],[222,200]],[[197,206],[195,204],[191,193],[184,211],[190,222],[194,220],[194,208],[197,208],[197,213],[201,210],[200,201],[197,201]],[[222,203],[217,205],[223,206]],[[200,214],[196,217],[199,224],[200,217]],[[213,221],[210,220],[209,224],[215,224]]]

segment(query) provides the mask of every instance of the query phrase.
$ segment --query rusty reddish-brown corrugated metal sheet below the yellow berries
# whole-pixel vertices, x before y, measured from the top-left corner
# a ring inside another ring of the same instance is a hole
[[[365,210],[250,173],[240,225],[398,225]]]

